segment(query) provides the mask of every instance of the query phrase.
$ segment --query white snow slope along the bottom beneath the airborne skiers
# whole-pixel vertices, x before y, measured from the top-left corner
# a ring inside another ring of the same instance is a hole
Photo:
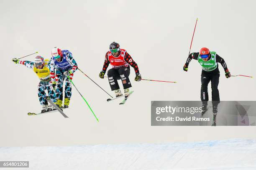
[[[1,147],[0,160],[28,160],[30,170],[256,170],[256,140]]]

